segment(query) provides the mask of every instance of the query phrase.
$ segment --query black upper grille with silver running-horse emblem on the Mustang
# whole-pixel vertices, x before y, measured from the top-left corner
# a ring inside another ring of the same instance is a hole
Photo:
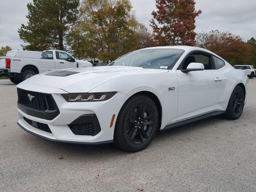
[[[18,103],[40,111],[58,111],[58,107],[51,94],[18,89]]]

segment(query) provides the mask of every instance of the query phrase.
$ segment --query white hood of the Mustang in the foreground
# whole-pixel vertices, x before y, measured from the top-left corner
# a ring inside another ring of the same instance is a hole
[[[90,92],[100,84],[120,76],[140,74],[167,73],[164,69],[144,69],[128,66],[84,67],[48,71],[33,76],[18,84],[18,88],[26,89],[26,84],[59,88],[69,93]],[[128,79],[129,80],[129,79]],[[122,82],[120,82],[121,84]]]

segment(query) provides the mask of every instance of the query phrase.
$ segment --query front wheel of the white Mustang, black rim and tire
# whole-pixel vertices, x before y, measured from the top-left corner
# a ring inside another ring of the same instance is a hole
[[[115,126],[114,144],[129,152],[146,148],[158,128],[156,104],[145,95],[131,97],[122,106]]]

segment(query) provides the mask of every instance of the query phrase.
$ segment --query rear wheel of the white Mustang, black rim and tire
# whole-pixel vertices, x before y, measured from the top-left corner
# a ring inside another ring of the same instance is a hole
[[[225,118],[236,120],[244,110],[244,90],[241,86],[236,86],[230,96]]]

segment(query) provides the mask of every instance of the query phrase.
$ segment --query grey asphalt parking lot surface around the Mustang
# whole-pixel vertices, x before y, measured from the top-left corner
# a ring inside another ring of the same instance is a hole
[[[256,78],[240,119],[158,132],[141,152],[50,142],[17,124],[16,86],[0,79],[0,191],[256,191]]]

